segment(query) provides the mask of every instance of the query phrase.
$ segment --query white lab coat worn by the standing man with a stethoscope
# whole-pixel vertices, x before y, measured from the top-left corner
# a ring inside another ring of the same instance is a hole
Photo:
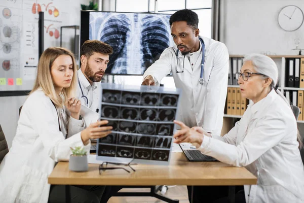
[[[184,72],[176,73],[176,45],[164,50],[159,60],[145,71],[143,79],[151,75],[159,85],[163,77],[172,73],[175,86],[182,89],[178,119],[187,126],[202,126],[208,132],[220,134],[227,94],[229,54],[223,43],[202,39],[205,44],[205,85],[199,84],[202,54],[193,70],[185,57]],[[181,71],[183,55],[180,52],[178,60],[177,70]]]

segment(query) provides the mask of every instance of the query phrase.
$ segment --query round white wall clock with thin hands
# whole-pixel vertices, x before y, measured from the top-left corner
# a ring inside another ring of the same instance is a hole
[[[290,5],[284,7],[278,16],[278,22],[286,31],[297,30],[303,23],[304,15],[300,8]]]

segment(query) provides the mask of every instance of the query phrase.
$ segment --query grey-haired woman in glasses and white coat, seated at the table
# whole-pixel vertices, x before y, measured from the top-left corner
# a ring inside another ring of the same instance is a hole
[[[193,143],[202,153],[245,166],[257,176],[257,185],[244,186],[243,202],[304,202],[304,169],[298,148],[301,142],[289,101],[275,88],[275,62],[261,54],[245,56],[237,78],[242,97],[253,104],[248,105],[235,127],[220,137],[175,121],[182,129],[174,134],[174,142]],[[200,201],[206,202],[203,197]]]

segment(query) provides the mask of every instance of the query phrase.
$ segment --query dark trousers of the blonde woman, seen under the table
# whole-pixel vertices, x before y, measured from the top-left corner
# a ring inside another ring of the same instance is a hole
[[[100,203],[105,186],[70,185],[71,203]],[[51,185],[49,203],[65,203],[65,185]]]

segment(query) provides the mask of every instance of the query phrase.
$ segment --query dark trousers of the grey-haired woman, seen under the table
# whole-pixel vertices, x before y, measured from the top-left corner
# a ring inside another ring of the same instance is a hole
[[[187,186],[188,198],[191,203],[192,187]],[[193,203],[229,203],[228,186],[194,186]],[[246,203],[244,186],[236,186],[236,203]]]

